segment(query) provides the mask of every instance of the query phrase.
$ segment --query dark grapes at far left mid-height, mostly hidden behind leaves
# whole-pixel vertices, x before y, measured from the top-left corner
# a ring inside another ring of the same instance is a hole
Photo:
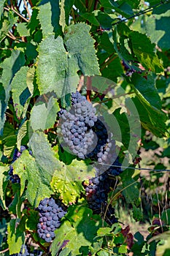
[[[20,151],[18,151],[18,149],[15,148],[12,162],[15,162],[15,160],[17,160],[18,157],[20,157],[20,155],[23,153],[24,150],[26,150],[26,146],[20,146]],[[29,154],[32,154],[31,150],[29,151]],[[13,167],[12,167],[12,165],[9,165],[9,172],[8,172],[8,174],[10,176],[9,179],[10,179],[10,181],[12,181],[12,183],[20,184],[20,177],[18,176],[18,174],[13,174]]]

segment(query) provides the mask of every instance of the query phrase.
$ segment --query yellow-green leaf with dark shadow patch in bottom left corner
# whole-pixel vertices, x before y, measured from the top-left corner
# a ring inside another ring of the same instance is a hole
[[[7,227],[7,243],[9,245],[9,254],[13,255],[20,252],[20,247],[24,242],[24,234],[20,231],[18,219],[11,219]]]

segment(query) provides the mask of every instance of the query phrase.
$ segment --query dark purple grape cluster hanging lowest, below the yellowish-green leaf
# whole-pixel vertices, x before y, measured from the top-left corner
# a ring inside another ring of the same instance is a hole
[[[61,218],[64,217],[66,211],[61,206],[58,206],[53,198],[41,200],[37,210],[39,211],[37,233],[40,238],[50,243],[55,238],[54,230],[60,227]]]

